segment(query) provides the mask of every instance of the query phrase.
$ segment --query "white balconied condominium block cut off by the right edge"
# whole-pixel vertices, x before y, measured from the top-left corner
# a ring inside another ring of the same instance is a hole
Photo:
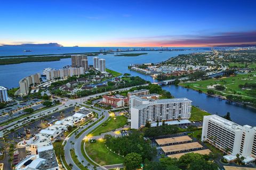
[[[229,153],[228,161],[236,159],[236,154],[250,164],[256,157],[256,128],[238,125],[217,115],[204,116],[202,141],[207,141],[218,149]]]

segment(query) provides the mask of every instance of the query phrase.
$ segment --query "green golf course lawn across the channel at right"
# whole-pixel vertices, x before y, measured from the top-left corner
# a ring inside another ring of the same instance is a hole
[[[256,72],[251,72],[248,74],[238,74],[233,77],[228,78],[220,78],[220,79],[209,79],[209,80],[202,80],[196,82],[188,82],[188,83],[180,83],[180,86],[188,87],[194,90],[202,90],[203,92],[207,93],[207,86],[211,86],[213,84],[220,84],[225,86],[226,89],[223,91],[215,90],[214,92],[217,95],[221,96],[228,96],[228,95],[243,95],[243,98],[255,97],[255,94],[252,90],[248,89],[241,89],[239,88],[239,84],[247,83],[254,83],[256,81],[256,77],[254,75]]]

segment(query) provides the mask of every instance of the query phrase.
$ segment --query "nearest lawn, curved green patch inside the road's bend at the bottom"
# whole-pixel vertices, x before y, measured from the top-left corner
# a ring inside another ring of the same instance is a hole
[[[100,165],[122,164],[124,158],[110,152],[103,141],[97,140],[95,143],[86,143],[85,150],[94,162]]]

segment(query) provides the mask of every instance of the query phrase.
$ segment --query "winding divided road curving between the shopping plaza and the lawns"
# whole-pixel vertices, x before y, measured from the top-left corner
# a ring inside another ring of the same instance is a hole
[[[83,165],[87,165],[89,162],[87,162],[87,160],[84,158],[83,154],[82,154],[82,151],[81,151],[81,143],[82,143],[82,140],[84,139],[84,137],[89,134],[93,129],[97,128],[102,122],[106,121],[109,117],[109,113],[104,110],[104,109],[101,109],[101,111],[97,111],[95,109],[90,109],[94,112],[97,112],[98,115],[100,116],[100,114],[103,112],[103,114],[105,115],[105,117],[99,121],[98,123],[94,124],[91,128],[87,129],[84,133],[82,133],[82,135],[80,135],[79,138],[75,138],[75,133],[73,135],[71,135],[71,137],[69,137],[69,139],[67,140],[66,142],[66,145],[64,147],[64,150],[65,150],[65,159],[66,159],[66,162],[67,164],[69,165],[70,163],[73,164],[73,168],[74,170],[80,170],[80,168],[73,162],[73,159],[71,158],[71,155],[70,155],[70,149],[72,149],[72,146],[70,144],[70,141],[73,141],[75,144],[74,144],[74,148],[75,148],[75,153],[77,155],[77,159],[79,160],[79,162],[82,163],[82,160],[84,160],[84,163]],[[98,118],[95,118],[94,121],[97,121]],[[89,169],[93,169],[93,165],[91,165],[89,167]],[[97,169],[102,169],[101,167],[97,167]]]

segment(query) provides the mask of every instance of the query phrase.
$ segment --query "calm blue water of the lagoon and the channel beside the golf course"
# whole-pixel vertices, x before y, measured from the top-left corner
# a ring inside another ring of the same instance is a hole
[[[73,47],[70,47],[73,48]],[[76,47],[74,47],[76,48]],[[94,47],[96,48],[96,47]],[[97,50],[96,50],[97,51]],[[92,49],[91,52],[95,52]],[[189,54],[194,51],[186,50],[181,52],[147,52],[148,55],[141,55],[138,57],[115,57],[113,54],[99,55],[101,58],[105,58],[106,66],[108,69],[115,70],[121,73],[130,73],[134,76],[139,76],[145,80],[154,82],[155,80],[147,75],[143,75],[137,72],[132,72],[127,69],[127,66],[134,63],[157,63],[165,61],[170,57],[177,56],[179,54]],[[197,50],[195,52],[202,52],[202,50]],[[67,52],[65,52],[67,53]],[[72,52],[69,52],[72,53]],[[129,52],[131,53],[131,52]],[[142,53],[142,52],[133,52]],[[46,53],[40,53],[46,54]],[[55,54],[55,53],[48,53]],[[1,47],[0,47],[1,55]],[[92,58],[89,58],[89,64],[92,64]],[[34,63],[21,63],[12,65],[0,65],[0,85],[7,88],[18,87],[18,82],[23,77],[27,75],[34,74],[43,71],[46,67],[52,67],[54,69],[60,69],[65,65],[70,65],[70,58],[65,58],[60,61],[54,62],[34,62]],[[193,101],[194,106],[199,106],[205,111],[211,114],[225,115],[230,112],[231,119],[241,125],[249,124],[251,126],[256,126],[256,110],[239,106],[233,103],[228,103],[226,100],[219,99],[217,97],[210,97],[205,94],[199,94],[197,91],[189,90],[183,87],[177,86],[163,86],[163,89],[170,91],[175,97],[187,97]]]

